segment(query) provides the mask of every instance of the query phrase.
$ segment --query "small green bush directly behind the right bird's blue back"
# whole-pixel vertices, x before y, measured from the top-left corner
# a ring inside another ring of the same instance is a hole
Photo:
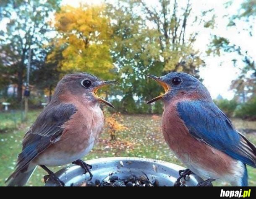
[[[221,109],[228,117],[234,116],[234,112],[238,103],[235,100],[214,100],[214,103]]]

